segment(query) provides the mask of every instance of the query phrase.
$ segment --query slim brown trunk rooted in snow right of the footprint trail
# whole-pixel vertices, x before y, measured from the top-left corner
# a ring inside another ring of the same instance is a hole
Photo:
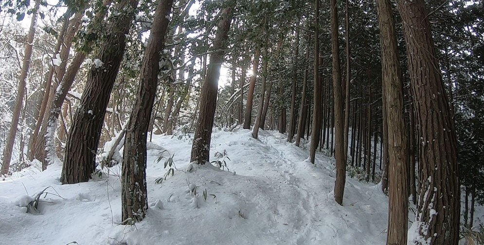
[[[344,155],[344,114],[341,91],[340,47],[338,42],[338,9],[336,0],[331,0],[331,50],[333,54],[333,94],[335,125],[336,181],[335,199],[343,205],[344,183],[346,181],[346,156]]]

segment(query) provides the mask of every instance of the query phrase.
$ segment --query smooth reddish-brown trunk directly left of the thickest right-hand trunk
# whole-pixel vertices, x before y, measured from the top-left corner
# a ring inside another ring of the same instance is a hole
[[[408,149],[405,132],[402,79],[395,34],[392,3],[377,0],[380,27],[383,90],[388,123],[390,192],[387,245],[407,244],[408,224]]]

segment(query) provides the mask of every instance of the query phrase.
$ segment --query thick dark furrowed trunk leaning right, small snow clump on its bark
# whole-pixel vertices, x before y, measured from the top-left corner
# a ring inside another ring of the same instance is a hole
[[[79,107],[72,120],[62,166],[63,184],[86,182],[94,172],[106,107],[123,60],[125,35],[129,32],[137,5],[137,0],[117,2],[117,9],[124,11],[113,16],[107,28],[107,36],[110,38],[104,40],[97,55],[103,65],[92,65],[90,68]]]

